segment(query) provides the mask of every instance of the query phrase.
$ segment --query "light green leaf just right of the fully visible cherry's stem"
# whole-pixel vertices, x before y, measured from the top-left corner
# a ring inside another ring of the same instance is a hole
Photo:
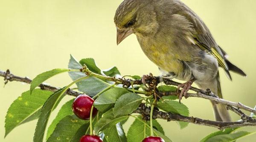
[[[116,103],[116,100],[128,93],[124,88],[111,88],[106,92],[102,93],[93,103],[93,106],[101,112],[106,112],[109,109],[113,108]]]

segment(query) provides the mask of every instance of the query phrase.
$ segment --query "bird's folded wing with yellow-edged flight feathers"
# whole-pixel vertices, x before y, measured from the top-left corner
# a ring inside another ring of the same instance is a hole
[[[213,55],[218,60],[219,66],[225,70],[227,77],[232,80],[224,55],[204,22],[189,8],[185,8],[185,10],[183,9],[177,13],[185,17],[193,25],[196,31],[193,32],[195,44],[202,50]]]

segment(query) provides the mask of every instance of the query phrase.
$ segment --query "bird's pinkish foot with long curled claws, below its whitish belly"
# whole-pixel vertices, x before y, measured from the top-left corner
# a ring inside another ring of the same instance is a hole
[[[193,82],[195,80],[196,79],[193,78],[193,79],[177,86],[177,97],[179,97],[179,102],[180,102],[180,100],[182,99],[183,96],[185,98],[187,98],[187,93],[188,93],[189,89],[191,88],[191,85],[193,84]],[[180,90],[180,88],[182,88],[182,89]],[[180,90],[180,93],[179,93],[179,90]]]

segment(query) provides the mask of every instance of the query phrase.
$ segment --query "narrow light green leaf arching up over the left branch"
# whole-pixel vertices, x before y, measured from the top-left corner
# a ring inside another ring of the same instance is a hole
[[[53,69],[53,70],[43,72],[43,73],[37,75],[31,82],[30,93],[32,93],[32,91],[33,91],[33,89],[35,89],[35,87],[39,86],[41,83],[46,81],[48,78],[51,78],[52,76],[60,74],[62,72],[68,72],[68,71],[70,71],[70,70],[69,69]]]

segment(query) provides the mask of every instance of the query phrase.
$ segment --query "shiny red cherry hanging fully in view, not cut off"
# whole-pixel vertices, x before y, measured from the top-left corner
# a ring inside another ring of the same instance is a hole
[[[90,119],[90,110],[94,100],[87,95],[79,95],[72,104],[72,110],[77,117],[82,120]],[[93,108],[93,116],[97,114],[97,109]]]

